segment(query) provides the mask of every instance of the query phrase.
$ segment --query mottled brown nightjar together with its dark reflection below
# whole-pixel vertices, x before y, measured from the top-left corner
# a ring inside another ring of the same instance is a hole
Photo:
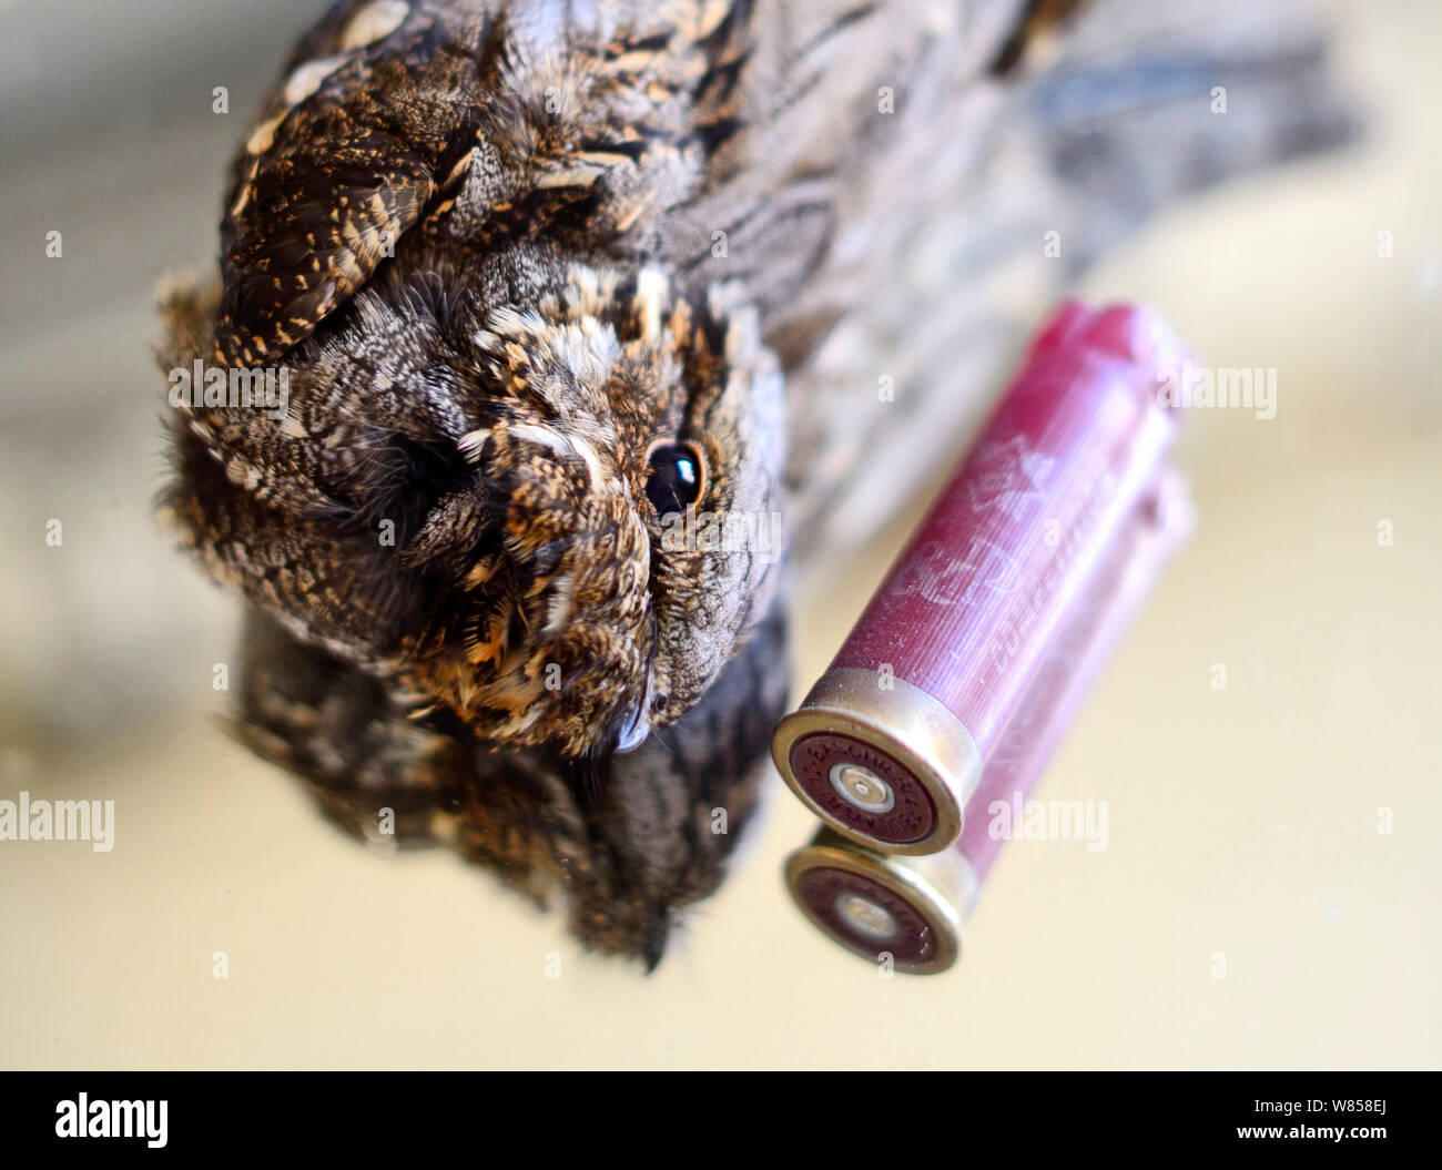
[[[784,706],[779,537],[955,458],[1154,207],[1345,137],[1305,22],[1161,7],[332,7],[164,298],[163,369],[286,388],[174,411],[163,500],[248,601],[247,742],[659,958]]]

